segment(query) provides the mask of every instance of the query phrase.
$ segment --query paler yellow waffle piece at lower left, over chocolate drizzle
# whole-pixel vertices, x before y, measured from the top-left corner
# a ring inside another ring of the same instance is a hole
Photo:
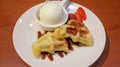
[[[48,52],[50,54],[54,54],[55,51],[68,52],[68,44],[65,39],[59,40],[53,37],[51,32],[48,32],[32,44],[32,51],[36,58],[41,52]]]

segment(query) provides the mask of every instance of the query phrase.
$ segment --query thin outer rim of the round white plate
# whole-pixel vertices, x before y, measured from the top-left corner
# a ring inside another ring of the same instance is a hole
[[[23,12],[23,13],[21,14],[21,16],[18,18],[18,20],[16,21],[16,23],[15,23],[15,25],[14,25],[13,33],[12,33],[12,41],[13,41],[13,45],[14,45],[15,51],[17,52],[18,56],[19,56],[26,64],[28,64],[29,66],[31,66],[31,64],[29,64],[29,63],[19,54],[19,52],[18,52],[18,50],[17,50],[17,48],[16,48],[16,46],[15,46],[15,43],[14,43],[15,28],[16,28],[18,22],[20,21],[20,19],[22,18],[22,16],[23,16],[25,13],[27,13],[27,12],[28,12],[29,10],[31,10],[32,8],[35,8],[35,6],[41,5],[42,3],[43,3],[43,2],[41,2],[41,3],[39,3],[39,4],[36,4],[36,5],[32,6],[31,8],[27,9],[25,12]],[[87,7],[85,7],[85,6],[83,6],[83,5],[79,4],[79,3],[75,3],[75,2],[70,2],[70,3],[76,4],[76,5],[79,5],[79,6],[82,6],[82,7],[86,8],[86,9],[88,9]],[[88,9],[88,10],[89,10],[90,12],[92,12],[90,9]],[[97,16],[95,13],[92,12],[92,14],[94,14],[94,15],[98,18],[98,16]],[[98,19],[99,19],[99,18],[98,18]],[[104,38],[104,39],[105,39],[105,40],[104,40],[104,48],[101,50],[100,55],[97,57],[97,59],[96,59],[94,62],[92,62],[92,64],[94,64],[94,63],[101,57],[101,55],[102,55],[102,53],[103,53],[103,51],[104,51],[104,49],[105,49],[105,45],[106,45],[106,32],[105,32],[105,28],[104,28],[104,25],[102,24],[102,22],[101,22],[100,19],[99,19],[99,21],[100,21],[100,24],[102,25],[102,28],[103,28],[103,31],[104,31],[104,35],[105,35],[105,38]],[[90,64],[90,65],[92,65],[92,64]]]

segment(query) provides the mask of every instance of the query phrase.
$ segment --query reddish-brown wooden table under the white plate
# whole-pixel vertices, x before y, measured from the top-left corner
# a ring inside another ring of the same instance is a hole
[[[0,67],[29,67],[16,53],[12,34],[18,18],[44,0],[0,0]],[[120,67],[120,0],[71,0],[93,11],[102,21],[107,41],[91,67]]]

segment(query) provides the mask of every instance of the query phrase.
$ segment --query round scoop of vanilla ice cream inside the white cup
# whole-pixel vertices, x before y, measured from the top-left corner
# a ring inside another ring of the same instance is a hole
[[[46,25],[58,24],[63,21],[63,14],[63,8],[58,3],[47,2],[39,11],[40,23]]]

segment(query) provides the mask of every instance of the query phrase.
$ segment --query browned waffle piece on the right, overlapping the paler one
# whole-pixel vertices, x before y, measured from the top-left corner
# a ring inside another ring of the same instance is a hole
[[[69,20],[67,24],[55,29],[57,38],[71,38],[73,42],[79,42],[86,46],[92,45],[92,38],[88,28],[77,20]]]

